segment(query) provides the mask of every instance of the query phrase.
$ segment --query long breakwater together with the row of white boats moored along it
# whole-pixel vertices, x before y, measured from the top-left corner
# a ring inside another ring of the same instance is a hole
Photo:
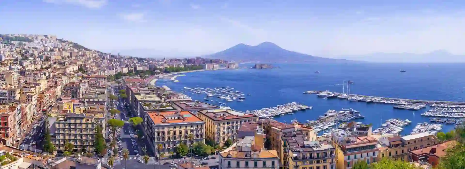
[[[451,107],[464,107],[465,108],[465,102],[462,102],[462,101],[399,99],[399,98],[367,96],[367,95],[361,95],[361,94],[345,94],[345,93],[337,93],[337,92],[329,92],[329,91],[315,91],[315,90],[306,91],[304,92],[304,94],[317,94],[319,97],[339,98],[339,99],[347,99],[347,100],[349,100],[349,98],[352,98],[350,100],[373,102],[373,103],[391,103],[391,104],[421,103],[421,104],[426,104],[426,105],[436,104],[436,106],[438,104],[441,104],[441,106],[450,105]]]

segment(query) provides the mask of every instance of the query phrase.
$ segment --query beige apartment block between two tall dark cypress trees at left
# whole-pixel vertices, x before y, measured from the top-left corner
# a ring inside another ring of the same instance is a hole
[[[78,150],[90,151],[94,148],[97,125],[105,126],[103,116],[93,116],[90,113],[66,113],[57,116],[50,131],[54,134],[57,149],[63,149],[65,144],[69,142]]]

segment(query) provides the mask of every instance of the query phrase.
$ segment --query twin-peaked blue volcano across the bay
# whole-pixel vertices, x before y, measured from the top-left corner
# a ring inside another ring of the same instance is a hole
[[[264,42],[256,46],[237,44],[229,49],[207,55],[207,58],[224,59],[243,62],[337,62],[345,59],[330,59],[311,56],[299,52],[283,49],[271,42]]]

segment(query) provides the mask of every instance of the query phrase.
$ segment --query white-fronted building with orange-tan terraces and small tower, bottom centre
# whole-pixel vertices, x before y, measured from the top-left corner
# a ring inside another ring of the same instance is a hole
[[[276,150],[264,147],[265,135],[256,128],[255,136],[246,136],[219,153],[219,169],[279,169]]]

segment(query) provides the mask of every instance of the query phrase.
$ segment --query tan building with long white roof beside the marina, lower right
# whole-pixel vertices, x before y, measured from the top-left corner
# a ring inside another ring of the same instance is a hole
[[[438,142],[436,137],[429,132],[407,135],[404,137],[394,136],[390,138],[379,138],[379,144],[381,144],[382,147],[379,148],[378,158],[386,156],[397,160],[408,161],[408,150],[427,147]]]

